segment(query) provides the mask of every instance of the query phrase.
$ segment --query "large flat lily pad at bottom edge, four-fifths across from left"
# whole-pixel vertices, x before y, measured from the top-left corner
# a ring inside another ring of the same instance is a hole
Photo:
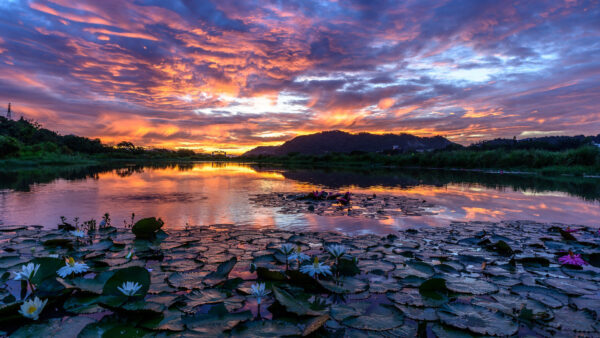
[[[519,325],[512,318],[470,304],[446,304],[438,310],[438,316],[446,325],[478,334],[510,336],[517,333],[519,329]]]

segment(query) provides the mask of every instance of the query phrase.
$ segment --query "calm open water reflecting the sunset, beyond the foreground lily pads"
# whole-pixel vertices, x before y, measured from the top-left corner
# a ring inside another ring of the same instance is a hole
[[[233,223],[240,227],[389,233],[451,221],[528,219],[600,225],[600,181],[452,171],[324,171],[234,163],[129,165],[0,174],[0,222],[53,228],[109,212],[113,224],[160,216],[170,228]],[[259,207],[252,194],[315,189],[421,198],[434,216],[368,220],[285,215]]]

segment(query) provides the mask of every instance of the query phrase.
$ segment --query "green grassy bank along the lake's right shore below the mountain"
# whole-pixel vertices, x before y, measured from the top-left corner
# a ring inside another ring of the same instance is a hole
[[[417,153],[364,153],[286,156],[242,157],[255,163],[285,165],[287,167],[312,165],[317,167],[355,168],[422,168],[450,169],[497,173],[529,173],[541,175],[600,175],[600,150],[583,146],[563,151],[539,149],[519,150],[440,150]]]

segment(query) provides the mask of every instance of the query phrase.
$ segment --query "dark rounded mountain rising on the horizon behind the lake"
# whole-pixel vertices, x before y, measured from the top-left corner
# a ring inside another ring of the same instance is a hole
[[[455,143],[441,136],[418,137],[409,134],[350,134],[343,131],[324,131],[293,138],[280,146],[256,147],[242,156],[282,156],[290,153],[323,155],[353,151],[424,151],[445,149]]]

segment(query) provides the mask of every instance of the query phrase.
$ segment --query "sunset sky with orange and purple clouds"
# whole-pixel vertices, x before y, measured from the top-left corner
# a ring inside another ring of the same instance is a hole
[[[232,154],[335,129],[596,135],[600,3],[0,0],[8,102],[61,134]]]

